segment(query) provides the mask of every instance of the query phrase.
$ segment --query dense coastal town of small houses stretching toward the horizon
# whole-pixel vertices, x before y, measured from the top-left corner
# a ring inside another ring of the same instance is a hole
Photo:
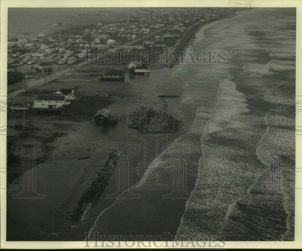
[[[62,22],[52,24],[59,31],[51,34],[29,36],[24,33],[18,36],[9,33],[8,84],[28,77],[35,78],[36,73],[51,75],[54,69],[60,71],[66,65],[72,71],[73,65],[87,62],[87,57],[95,56],[94,49],[99,54],[108,51],[147,52],[162,51],[165,47],[184,44],[188,42],[187,33],[194,26],[206,24],[231,12],[234,9],[211,8],[206,11],[200,8],[176,8],[169,15],[151,9],[143,15],[124,16],[121,13],[104,11],[101,14],[75,16],[75,19],[83,23],[85,17],[95,17],[94,24],[68,28]],[[143,67],[141,62],[132,63],[128,68],[124,64],[124,70],[149,75],[150,70],[146,65]]]

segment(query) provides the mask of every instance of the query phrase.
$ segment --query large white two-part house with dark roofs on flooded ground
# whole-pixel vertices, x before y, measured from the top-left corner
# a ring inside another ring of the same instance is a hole
[[[34,110],[62,110],[76,99],[73,89],[62,88],[53,95],[41,95],[34,100]]]

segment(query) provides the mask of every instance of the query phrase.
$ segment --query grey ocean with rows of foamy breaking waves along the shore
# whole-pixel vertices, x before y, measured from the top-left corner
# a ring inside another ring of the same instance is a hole
[[[147,172],[145,182],[158,189],[136,189],[140,199],[121,199],[96,219],[91,232],[101,235],[225,236],[226,240],[292,240],[294,190],[291,199],[257,199],[265,192],[266,159],[257,153],[263,142],[291,146],[282,167],[294,168],[294,141],[276,131],[276,103],[295,95],[294,8],[254,8],[203,27],[194,44],[198,51],[225,52],[226,61],[180,64],[155,72],[157,95],[174,95],[175,118],[186,132],[174,143],[189,142],[186,155],[188,199],[164,199],[171,173]],[[284,123],[284,116],[279,119]],[[189,126],[188,126],[189,123]],[[182,144],[175,144],[182,152]],[[160,154],[149,165],[171,167],[171,156]],[[293,176],[281,177],[292,184]],[[190,196],[190,195],[188,195]]]

